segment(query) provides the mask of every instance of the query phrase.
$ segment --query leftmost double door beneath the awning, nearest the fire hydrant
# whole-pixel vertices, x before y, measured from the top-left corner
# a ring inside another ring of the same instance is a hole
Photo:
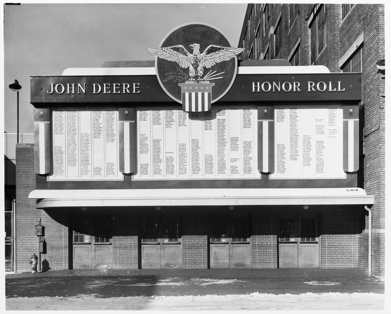
[[[73,269],[111,269],[111,218],[72,218]]]

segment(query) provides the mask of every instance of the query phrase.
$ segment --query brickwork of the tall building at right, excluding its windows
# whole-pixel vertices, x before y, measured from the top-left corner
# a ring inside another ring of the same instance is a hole
[[[288,56],[297,39],[300,38],[300,65],[310,65],[310,31],[308,17],[313,4],[300,4],[300,15],[294,25],[290,25],[285,33],[287,45],[285,52],[279,56]],[[340,58],[346,52],[354,50],[353,43],[364,34],[362,55],[362,112],[361,134],[365,138],[364,189],[373,195],[375,204],[372,210],[372,271],[374,275],[384,276],[384,230],[385,230],[385,75],[378,71],[376,62],[385,58],[385,14],[384,4],[355,4],[342,20],[341,4],[325,4],[326,6],[326,47],[316,60],[316,65],[325,65],[330,72],[340,72]],[[271,16],[276,18],[289,16],[289,5],[273,6],[269,4]],[[262,12],[261,12],[262,13]],[[274,22],[273,24],[274,25]],[[272,52],[273,36],[269,38],[266,30],[262,38],[263,52],[269,46]],[[353,52],[353,51],[352,51]],[[364,110],[363,110],[364,108]],[[361,209],[363,210],[363,209]],[[368,217],[368,216],[367,216]],[[368,233],[368,218],[366,231]],[[359,255],[357,265],[368,268],[368,239],[366,234],[357,241]],[[330,238],[331,240],[331,238]],[[355,242],[354,239],[352,239]],[[356,245],[356,244],[354,244]],[[330,258],[332,265],[333,258]],[[354,260],[352,260],[352,265]]]

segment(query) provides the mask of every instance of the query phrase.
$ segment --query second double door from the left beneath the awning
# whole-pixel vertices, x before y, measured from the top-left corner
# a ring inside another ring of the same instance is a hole
[[[182,267],[182,244],[178,216],[144,217],[140,220],[141,268]]]

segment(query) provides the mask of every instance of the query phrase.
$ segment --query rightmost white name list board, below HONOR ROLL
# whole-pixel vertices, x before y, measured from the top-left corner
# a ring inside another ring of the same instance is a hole
[[[344,179],[340,105],[274,108],[271,179]]]

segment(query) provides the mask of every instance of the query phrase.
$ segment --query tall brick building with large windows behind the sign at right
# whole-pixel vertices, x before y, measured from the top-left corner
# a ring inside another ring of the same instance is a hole
[[[242,59],[286,59],[293,66],[324,65],[361,72],[358,186],[374,195],[372,272],[384,276],[385,58],[384,4],[249,4],[239,47]],[[362,209],[359,209],[362,211]],[[357,234],[357,267],[368,270],[368,214]]]

